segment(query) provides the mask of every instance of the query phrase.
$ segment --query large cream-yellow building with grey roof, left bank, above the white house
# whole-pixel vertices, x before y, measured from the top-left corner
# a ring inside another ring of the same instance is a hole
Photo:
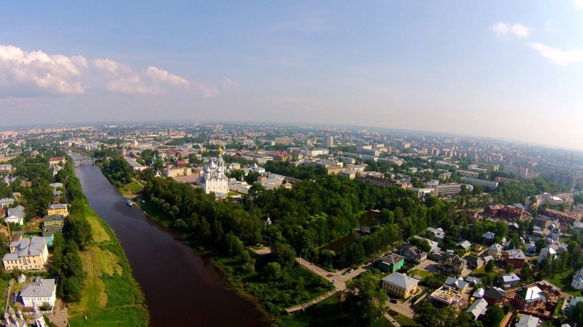
[[[43,269],[48,259],[47,241],[40,236],[24,237],[9,246],[10,253],[2,258],[5,271]]]

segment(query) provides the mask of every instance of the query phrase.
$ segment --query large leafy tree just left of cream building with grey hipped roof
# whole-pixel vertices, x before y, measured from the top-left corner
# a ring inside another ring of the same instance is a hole
[[[387,292],[381,289],[373,273],[363,272],[358,279],[348,280],[346,290],[354,300],[354,306],[360,317],[374,321],[387,312]]]

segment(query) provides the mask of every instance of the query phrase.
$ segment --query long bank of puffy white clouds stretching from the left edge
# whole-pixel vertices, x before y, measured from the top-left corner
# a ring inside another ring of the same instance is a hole
[[[222,81],[231,88],[234,81]],[[159,67],[135,70],[112,59],[87,61],[83,56],[48,55],[26,52],[12,45],[0,45],[0,98],[39,95],[83,94],[86,90],[120,94],[165,94],[171,90],[193,91],[205,98],[219,89]],[[226,88],[227,89],[227,88]]]

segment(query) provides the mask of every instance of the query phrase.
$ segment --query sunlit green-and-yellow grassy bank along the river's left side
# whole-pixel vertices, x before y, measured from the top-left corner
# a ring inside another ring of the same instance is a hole
[[[69,304],[71,326],[147,326],[148,312],[113,230],[85,202],[93,243],[80,252],[87,273],[82,298]]]

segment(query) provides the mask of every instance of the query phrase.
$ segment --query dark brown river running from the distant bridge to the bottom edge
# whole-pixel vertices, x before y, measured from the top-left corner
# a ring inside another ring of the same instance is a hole
[[[212,262],[140,208],[125,204],[98,166],[87,161],[75,172],[91,207],[111,226],[125,250],[146,297],[150,326],[269,325],[251,301],[228,289]]]

